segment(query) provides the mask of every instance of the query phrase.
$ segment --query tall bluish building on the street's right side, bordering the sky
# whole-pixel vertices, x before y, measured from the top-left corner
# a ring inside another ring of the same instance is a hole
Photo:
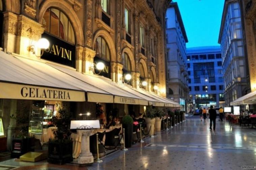
[[[247,94],[247,66],[238,1],[225,1],[218,42],[223,61],[224,97],[229,106],[230,102]]]

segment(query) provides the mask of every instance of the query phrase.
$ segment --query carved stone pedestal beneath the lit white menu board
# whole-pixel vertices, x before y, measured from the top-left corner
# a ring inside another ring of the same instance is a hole
[[[93,163],[93,156],[90,152],[90,136],[92,135],[91,129],[78,130],[78,134],[82,136],[81,154],[78,157],[78,164],[91,164]]]

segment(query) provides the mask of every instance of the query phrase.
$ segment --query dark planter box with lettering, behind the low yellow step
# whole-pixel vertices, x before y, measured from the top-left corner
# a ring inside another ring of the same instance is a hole
[[[12,139],[11,158],[20,158],[29,151],[34,151],[34,137]]]

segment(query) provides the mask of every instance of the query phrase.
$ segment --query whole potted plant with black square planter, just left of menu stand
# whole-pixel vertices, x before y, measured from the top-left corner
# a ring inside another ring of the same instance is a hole
[[[62,165],[73,161],[73,142],[70,140],[71,114],[65,103],[56,106],[59,115],[53,116],[52,122],[57,130],[54,131],[55,139],[49,140],[48,143],[48,162]]]

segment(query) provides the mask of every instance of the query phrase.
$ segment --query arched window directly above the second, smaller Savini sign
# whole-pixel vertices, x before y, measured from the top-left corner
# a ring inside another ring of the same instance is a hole
[[[96,50],[97,57],[110,61],[109,47],[104,38],[97,37],[94,49]]]

